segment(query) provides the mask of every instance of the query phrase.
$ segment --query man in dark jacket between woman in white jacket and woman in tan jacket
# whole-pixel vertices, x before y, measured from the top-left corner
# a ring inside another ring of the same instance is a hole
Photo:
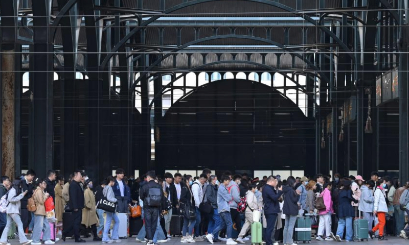
[[[27,201],[33,196],[35,186],[33,180],[35,178],[34,170],[30,169],[27,171],[26,175],[21,177],[21,188],[22,192],[27,190],[27,194],[20,201],[20,215],[22,228],[27,229],[31,222],[31,213],[27,210]]]

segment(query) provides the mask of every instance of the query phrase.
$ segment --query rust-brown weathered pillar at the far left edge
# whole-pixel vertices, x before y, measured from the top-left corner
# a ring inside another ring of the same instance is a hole
[[[14,50],[3,50],[2,54],[2,175],[14,177],[15,170],[15,54]]]

